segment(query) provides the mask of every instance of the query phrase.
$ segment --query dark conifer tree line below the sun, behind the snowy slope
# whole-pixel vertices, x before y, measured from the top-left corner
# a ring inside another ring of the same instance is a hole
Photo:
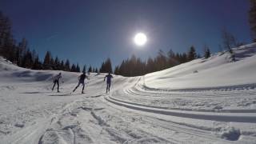
[[[210,53],[210,50],[207,52]],[[115,66],[114,74],[120,74],[127,77],[139,76],[159,70],[165,70],[196,58],[201,58],[201,56],[196,53],[194,46],[191,46],[187,53],[182,54],[175,54],[173,50],[169,50],[166,54],[162,50],[158,50],[158,54],[155,58],[148,58],[146,61],[142,61],[140,58],[132,55],[130,58],[123,60],[121,65]]]

